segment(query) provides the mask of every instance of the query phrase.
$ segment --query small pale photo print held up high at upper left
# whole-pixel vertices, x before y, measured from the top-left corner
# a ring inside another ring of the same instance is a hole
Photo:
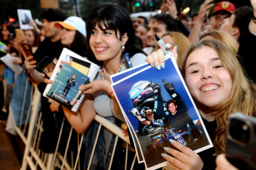
[[[31,11],[18,9],[17,12],[19,17],[19,27],[22,30],[33,30],[33,26],[28,24],[31,20],[33,20]]]

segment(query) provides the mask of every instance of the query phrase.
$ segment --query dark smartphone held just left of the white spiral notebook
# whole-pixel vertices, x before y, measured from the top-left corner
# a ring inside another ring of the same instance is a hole
[[[53,69],[55,68],[55,64],[53,63],[53,59],[45,56],[42,61],[37,64],[37,68],[40,72],[45,74],[46,78],[50,78],[51,74],[53,73]]]

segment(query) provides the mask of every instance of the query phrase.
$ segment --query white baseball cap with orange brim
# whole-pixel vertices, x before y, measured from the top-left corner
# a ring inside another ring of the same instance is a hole
[[[65,21],[56,21],[54,27],[62,29],[65,27],[68,30],[78,30],[82,35],[86,37],[85,21],[78,16],[70,16]]]

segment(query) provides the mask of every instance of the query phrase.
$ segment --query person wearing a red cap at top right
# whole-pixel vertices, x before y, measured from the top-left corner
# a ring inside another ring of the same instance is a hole
[[[220,1],[211,13],[212,30],[220,30],[223,20],[229,18],[235,10],[234,4],[229,1]]]

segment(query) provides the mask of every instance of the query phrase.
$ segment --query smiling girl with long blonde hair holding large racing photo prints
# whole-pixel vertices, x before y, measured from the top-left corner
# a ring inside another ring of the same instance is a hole
[[[175,50],[174,54],[177,55]],[[163,50],[146,58],[151,66],[164,64]],[[233,112],[255,116],[256,85],[249,80],[236,54],[220,41],[195,41],[184,55],[180,69],[203,119],[214,148],[198,154],[174,140],[163,157],[172,169],[215,169],[216,155],[226,150],[226,118]]]

